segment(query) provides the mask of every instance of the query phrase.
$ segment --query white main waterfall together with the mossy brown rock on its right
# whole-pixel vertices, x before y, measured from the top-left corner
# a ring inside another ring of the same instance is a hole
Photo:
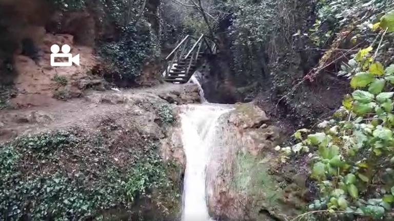
[[[287,220],[300,214],[306,175],[275,173],[281,131],[262,109],[206,102],[179,111],[186,154],[183,221]]]

